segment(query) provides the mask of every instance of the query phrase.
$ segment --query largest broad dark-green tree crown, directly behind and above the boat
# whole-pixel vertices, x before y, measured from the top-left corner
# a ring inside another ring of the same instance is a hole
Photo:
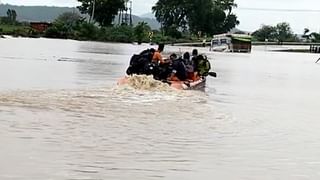
[[[158,0],[152,10],[166,34],[168,29],[188,27],[193,33],[212,35],[239,24],[237,16],[232,14],[234,7],[234,0]]]

